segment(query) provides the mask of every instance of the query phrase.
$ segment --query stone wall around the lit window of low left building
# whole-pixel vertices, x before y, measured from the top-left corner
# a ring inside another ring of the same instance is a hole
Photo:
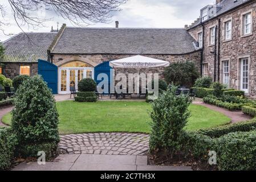
[[[7,78],[13,79],[19,75],[19,67],[21,65],[30,66],[30,76],[34,76],[38,73],[38,63],[3,63],[3,75]]]

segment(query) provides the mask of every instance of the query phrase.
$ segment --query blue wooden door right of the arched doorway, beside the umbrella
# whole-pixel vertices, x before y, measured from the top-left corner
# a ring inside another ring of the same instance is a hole
[[[96,81],[97,85],[102,81],[102,80],[97,80],[97,76],[100,73],[105,73],[108,76],[108,93],[104,93],[104,94],[109,94],[110,91],[110,71],[111,71],[111,67],[109,67],[109,61],[105,61],[104,63],[101,63],[99,65],[97,65],[94,68],[94,80]]]

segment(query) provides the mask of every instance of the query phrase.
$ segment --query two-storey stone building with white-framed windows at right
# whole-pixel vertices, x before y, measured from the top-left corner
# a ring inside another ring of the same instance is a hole
[[[256,1],[218,0],[186,30],[202,51],[203,76],[256,96]]]

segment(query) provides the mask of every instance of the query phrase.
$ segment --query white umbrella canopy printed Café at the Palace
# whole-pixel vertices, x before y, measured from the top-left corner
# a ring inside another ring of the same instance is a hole
[[[110,61],[109,66],[112,68],[158,68],[158,67],[169,67],[168,61],[159,59],[153,59],[145,56],[132,56],[115,61]]]

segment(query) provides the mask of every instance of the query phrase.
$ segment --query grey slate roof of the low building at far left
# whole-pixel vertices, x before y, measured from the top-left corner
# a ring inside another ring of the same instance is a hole
[[[56,32],[20,33],[3,42],[5,58],[2,62],[34,63],[47,60],[47,49]],[[28,38],[29,37],[29,38]]]

